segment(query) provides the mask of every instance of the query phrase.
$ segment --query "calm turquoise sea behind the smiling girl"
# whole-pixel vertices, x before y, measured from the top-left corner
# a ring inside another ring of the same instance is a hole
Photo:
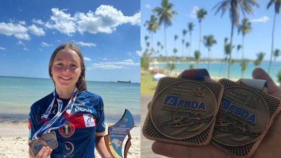
[[[51,79],[0,76],[0,122],[26,123],[30,106],[53,91]],[[90,81],[87,91],[103,98],[107,123],[116,123],[128,109],[140,124],[140,84]]]

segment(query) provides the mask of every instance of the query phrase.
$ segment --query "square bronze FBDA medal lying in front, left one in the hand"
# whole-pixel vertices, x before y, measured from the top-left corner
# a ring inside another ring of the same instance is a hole
[[[202,146],[212,138],[223,86],[216,82],[162,77],[143,127],[146,138]]]

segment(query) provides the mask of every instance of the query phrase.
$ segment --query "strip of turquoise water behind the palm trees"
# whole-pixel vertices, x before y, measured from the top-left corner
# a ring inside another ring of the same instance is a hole
[[[196,63],[192,63],[194,65],[194,68],[196,68]],[[188,63],[176,63],[176,69],[174,71],[176,72],[182,72],[185,69],[189,69],[191,64]],[[208,69],[208,63],[199,63],[198,68],[206,68],[210,74],[211,77],[220,77],[220,78],[226,78],[227,77],[227,71],[228,71],[228,63],[210,63]],[[159,68],[166,68],[166,63],[160,63],[160,64],[154,64],[154,67]],[[258,67],[263,68],[266,72],[268,71],[269,67],[269,61],[264,61],[262,64]],[[252,78],[252,71],[254,70],[254,64],[248,63],[247,68],[244,71],[243,78]],[[277,74],[278,71],[281,70],[281,62],[275,62],[271,64],[271,70],[270,70],[270,76],[272,79],[277,82]],[[239,79],[241,78],[241,66],[240,63],[233,63],[231,65],[231,74],[230,78]]]

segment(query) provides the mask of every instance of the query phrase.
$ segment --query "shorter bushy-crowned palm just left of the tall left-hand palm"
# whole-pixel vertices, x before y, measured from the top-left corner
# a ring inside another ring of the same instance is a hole
[[[157,22],[157,18],[154,15],[150,16],[150,20],[145,22],[145,27],[147,26],[147,30],[150,33],[151,37],[151,53],[153,54],[153,33],[156,33],[156,30],[159,29],[159,23]]]

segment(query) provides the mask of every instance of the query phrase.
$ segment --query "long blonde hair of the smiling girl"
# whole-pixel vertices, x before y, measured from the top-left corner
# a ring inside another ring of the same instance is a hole
[[[60,51],[62,49],[66,49],[66,48],[69,48],[69,49],[72,49],[72,50],[76,51],[78,56],[79,56],[79,58],[80,58],[81,75],[79,76],[78,81],[76,83],[77,89],[79,91],[87,90],[87,85],[86,85],[86,81],[85,81],[85,71],[86,71],[86,68],[85,68],[85,64],[84,64],[84,58],[83,58],[82,53],[79,50],[78,46],[75,45],[74,43],[63,43],[63,44],[59,45],[55,49],[55,51],[53,52],[53,54],[52,54],[52,56],[50,58],[50,62],[49,62],[49,76],[51,77],[51,79],[53,80],[53,82],[55,84],[53,75],[51,73],[52,66],[53,66],[53,63],[54,63],[54,60],[55,60],[55,57],[56,57],[58,51]]]

